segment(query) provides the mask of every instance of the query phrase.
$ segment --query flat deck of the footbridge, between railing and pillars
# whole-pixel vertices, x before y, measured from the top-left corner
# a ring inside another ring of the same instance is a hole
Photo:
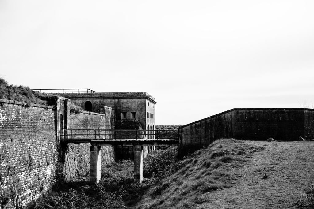
[[[91,143],[92,146],[178,146],[178,139],[60,139],[67,143]]]

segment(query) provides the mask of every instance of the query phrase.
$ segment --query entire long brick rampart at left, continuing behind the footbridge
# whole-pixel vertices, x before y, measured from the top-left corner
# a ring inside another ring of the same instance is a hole
[[[60,144],[60,114],[66,118],[64,100],[57,108],[0,99],[0,205],[24,208],[31,201],[71,177],[89,173],[89,144]],[[114,109],[105,114],[72,114],[66,125],[78,128],[113,128]],[[81,124],[78,123],[80,126]],[[114,160],[114,150],[102,150],[102,164]],[[71,170],[71,172],[70,172]]]

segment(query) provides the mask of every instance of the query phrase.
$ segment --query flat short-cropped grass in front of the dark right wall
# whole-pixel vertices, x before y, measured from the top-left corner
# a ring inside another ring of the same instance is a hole
[[[247,143],[265,150],[254,153],[236,170],[241,181],[230,189],[208,194],[209,201],[198,208],[302,208],[298,205],[299,196],[313,191],[308,184],[314,173],[314,142]],[[267,179],[262,178],[264,173]],[[252,183],[252,178],[257,178],[258,183]]]

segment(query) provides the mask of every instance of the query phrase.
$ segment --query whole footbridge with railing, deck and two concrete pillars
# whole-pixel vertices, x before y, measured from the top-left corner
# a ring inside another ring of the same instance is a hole
[[[179,134],[174,129],[62,129],[59,132],[61,143],[90,143],[90,181],[100,181],[101,147],[134,147],[134,183],[143,180],[143,146],[178,146]]]

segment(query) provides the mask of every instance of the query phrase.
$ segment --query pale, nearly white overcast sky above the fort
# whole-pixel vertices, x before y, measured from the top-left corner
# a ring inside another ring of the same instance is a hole
[[[148,92],[156,125],[314,101],[314,1],[0,0],[0,77]]]

